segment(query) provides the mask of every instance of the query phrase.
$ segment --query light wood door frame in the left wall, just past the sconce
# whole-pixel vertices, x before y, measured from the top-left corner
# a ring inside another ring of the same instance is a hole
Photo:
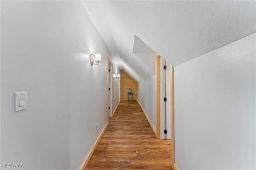
[[[113,101],[112,101],[112,106],[110,106],[110,101],[109,101],[109,88],[113,89],[113,83],[112,83],[112,87],[109,87],[109,77],[110,77],[110,71],[109,71],[109,64],[112,64],[112,70],[111,73],[113,73],[113,62],[111,61],[111,59],[107,56],[107,120],[109,121],[109,111],[111,109],[109,109],[109,107],[113,108]],[[113,82],[113,76],[111,75],[111,82]],[[112,92],[112,96],[113,96],[113,91]],[[113,100],[113,98],[112,98]]]

